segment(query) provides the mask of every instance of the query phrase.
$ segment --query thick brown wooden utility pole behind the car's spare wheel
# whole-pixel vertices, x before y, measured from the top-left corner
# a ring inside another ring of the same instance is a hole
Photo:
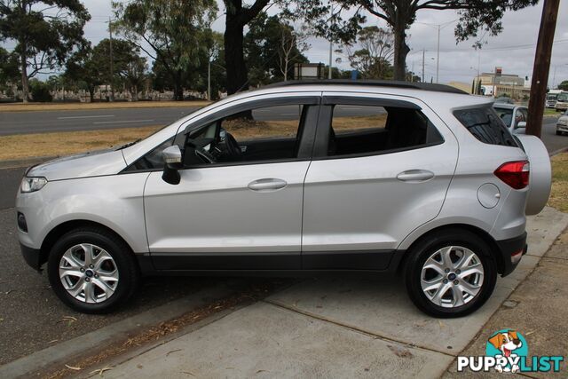
[[[559,6],[560,0],[544,0],[542,18],[540,19],[539,40],[534,57],[533,83],[531,84],[531,99],[529,100],[530,112],[526,123],[526,134],[532,134],[539,138],[542,130],[548,71],[550,69],[550,57],[552,56],[552,44],[556,31]]]

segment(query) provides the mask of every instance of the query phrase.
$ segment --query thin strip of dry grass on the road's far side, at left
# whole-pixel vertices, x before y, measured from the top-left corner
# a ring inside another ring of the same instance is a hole
[[[121,108],[205,107],[210,101],[119,101],[114,103],[12,103],[1,104],[0,112],[72,111]]]

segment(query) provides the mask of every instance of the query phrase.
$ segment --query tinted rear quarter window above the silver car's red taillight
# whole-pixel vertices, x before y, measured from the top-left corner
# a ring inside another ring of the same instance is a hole
[[[455,111],[454,116],[475,138],[485,144],[518,147],[493,107],[462,109]]]

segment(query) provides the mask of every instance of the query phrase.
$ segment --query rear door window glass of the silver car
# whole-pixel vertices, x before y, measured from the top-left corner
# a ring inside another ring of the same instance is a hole
[[[418,109],[336,104],[327,156],[381,154],[443,141],[438,130]]]

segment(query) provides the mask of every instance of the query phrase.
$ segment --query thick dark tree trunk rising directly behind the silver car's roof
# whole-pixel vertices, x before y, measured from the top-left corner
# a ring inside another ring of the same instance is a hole
[[[227,93],[232,95],[248,90],[248,70],[243,52],[244,27],[227,14],[225,28],[225,67],[227,70]]]

